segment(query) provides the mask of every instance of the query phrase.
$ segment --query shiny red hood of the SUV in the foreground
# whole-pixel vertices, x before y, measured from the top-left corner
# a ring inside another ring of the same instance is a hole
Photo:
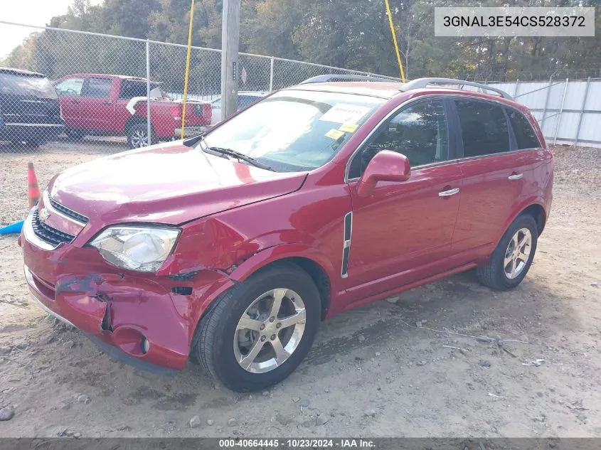
[[[297,191],[306,177],[208,155],[179,141],[80,164],[48,188],[53,200],[104,224],[178,225]]]

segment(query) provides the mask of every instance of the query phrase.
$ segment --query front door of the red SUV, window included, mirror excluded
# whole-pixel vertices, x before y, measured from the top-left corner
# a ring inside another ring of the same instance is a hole
[[[449,143],[445,102],[430,98],[402,107],[354,157],[349,171],[351,245],[342,274],[350,303],[445,266],[461,197],[461,172],[457,161],[449,161],[454,151]],[[411,176],[402,183],[380,182],[372,195],[361,198],[356,179],[383,149],[405,154]]]

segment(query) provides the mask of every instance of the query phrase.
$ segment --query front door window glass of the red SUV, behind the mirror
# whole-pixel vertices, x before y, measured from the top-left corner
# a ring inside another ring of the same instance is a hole
[[[381,150],[408,157],[411,166],[448,159],[449,139],[445,105],[441,100],[416,102],[388,119],[354,157],[349,178],[358,178]]]

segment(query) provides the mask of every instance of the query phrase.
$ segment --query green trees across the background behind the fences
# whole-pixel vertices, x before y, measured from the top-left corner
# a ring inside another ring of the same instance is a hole
[[[184,44],[190,0],[74,0],[49,25],[79,31]],[[548,6],[549,0],[507,0],[509,6]],[[559,0],[555,6],[597,6],[599,0]],[[551,73],[592,75],[601,70],[601,8],[595,38],[437,38],[435,6],[496,6],[495,0],[390,0],[405,73],[470,79],[546,78]],[[220,48],[222,0],[196,0],[193,45]],[[399,76],[383,0],[241,0],[240,51]],[[185,52],[151,49],[152,73],[180,90]],[[144,75],[144,44],[43,31],[33,33],[2,62],[60,77],[78,72]],[[267,89],[269,60],[245,58],[245,89]],[[317,68],[277,62],[275,85]],[[218,90],[218,53],[194,53],[192,90]],[[580,72],[578,72],[580,70]],[[301,73],[303,72],[303,73]],[[565,76],[565,75],[563,75]],[[574,75],[572,75],[574,76]],[[216,81],[217,80],[217,81]],[[299,80],[302,80],[300,78]]]

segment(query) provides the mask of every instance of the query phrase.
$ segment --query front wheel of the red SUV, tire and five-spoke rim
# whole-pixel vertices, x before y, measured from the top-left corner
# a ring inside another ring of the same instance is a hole
[[[191,355],[231,390],[262,390],[284,380],[309,352],[321,300],[296,264],[277,264],[216,299],[196,328]]]

